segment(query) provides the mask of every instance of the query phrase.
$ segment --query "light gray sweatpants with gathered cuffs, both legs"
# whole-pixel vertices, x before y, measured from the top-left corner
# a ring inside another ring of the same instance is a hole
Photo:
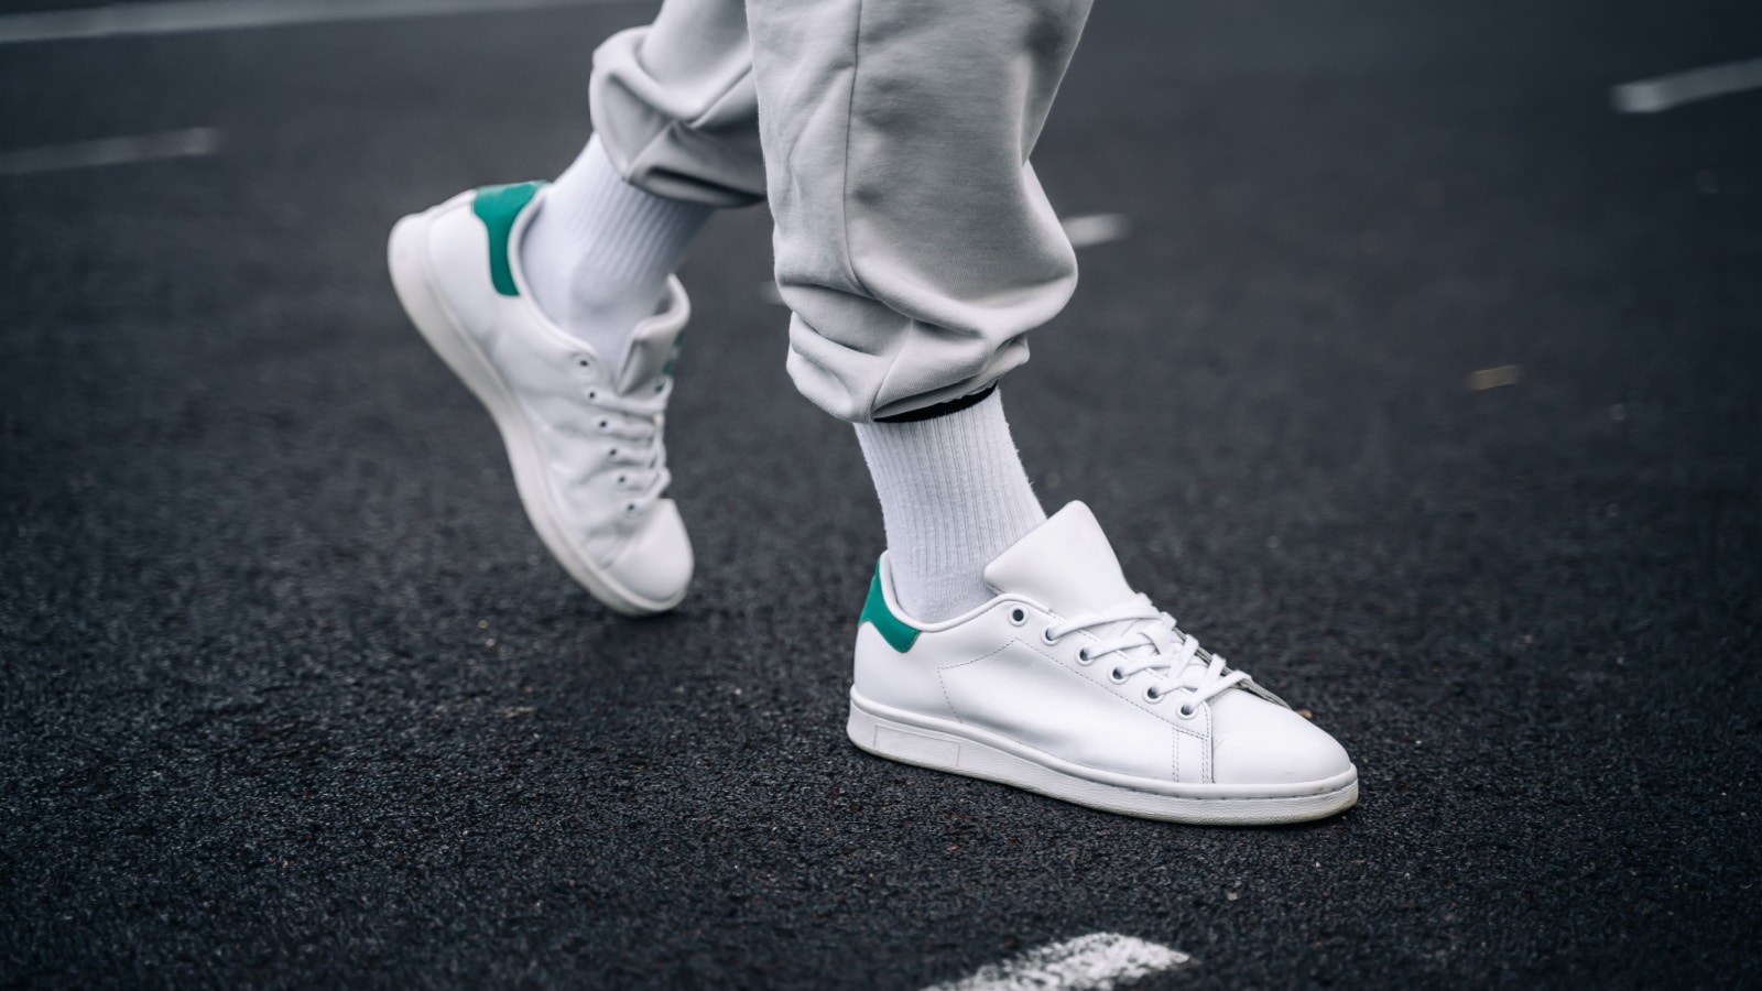
[[[768,199],[789,376],[842,420],[978,391],[1077,287],[1029,153],[1091,0],[666,0],[594,53],[620,173]]]

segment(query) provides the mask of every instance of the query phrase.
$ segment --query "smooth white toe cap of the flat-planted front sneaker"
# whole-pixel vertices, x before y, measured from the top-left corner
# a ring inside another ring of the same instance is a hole
[[[1297,785],[1346,772],[1351,758],[1327,732],[1249,691],[1225,691],[1212,709],[1212,781]]]

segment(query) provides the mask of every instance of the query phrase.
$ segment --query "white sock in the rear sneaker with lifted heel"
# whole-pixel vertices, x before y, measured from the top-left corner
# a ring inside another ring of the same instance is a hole
[[[544,316],[618,361],[712,212],[624,182],[594,136],[544,192],[520,242],[520,265]]]

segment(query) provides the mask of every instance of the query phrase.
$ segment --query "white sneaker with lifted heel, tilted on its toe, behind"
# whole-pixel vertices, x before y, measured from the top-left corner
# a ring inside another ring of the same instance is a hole
[[[691,303],[636,324],[624,354],[596,354],[546,317],[513,245],[543,183],[486,187],[391,229],[391,282],[416,330],[483,400],[544,547],[599,601],[629,614],[685,598],[691,540],[666,499],[661,443],[673,358]]]

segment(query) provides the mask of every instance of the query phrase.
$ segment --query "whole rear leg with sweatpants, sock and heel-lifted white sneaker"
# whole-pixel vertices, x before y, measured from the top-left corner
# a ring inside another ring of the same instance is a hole
[[[398,298],[495,418],[534,529],[626,614],[673,608],[692,573],[661,443],[689,317],[670,273],[712,208],[763,192],[747,62],[738,0],[670,0],[596,53],[601,136],[557,183],[391,236]]]

